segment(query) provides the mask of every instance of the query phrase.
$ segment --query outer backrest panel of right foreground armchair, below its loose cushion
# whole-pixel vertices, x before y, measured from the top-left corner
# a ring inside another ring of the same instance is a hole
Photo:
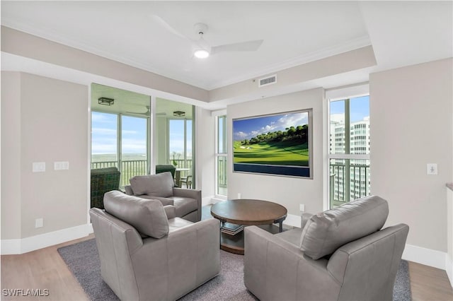
[[[338,248],[327,264],[342,283],[338,300],[392,300],[408,231],[394,225]]]

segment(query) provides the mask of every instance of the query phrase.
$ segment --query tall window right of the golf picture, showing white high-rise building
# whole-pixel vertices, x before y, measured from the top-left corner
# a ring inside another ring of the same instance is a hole
[[[329,102],[329,206],[369,195],[369,96]]]

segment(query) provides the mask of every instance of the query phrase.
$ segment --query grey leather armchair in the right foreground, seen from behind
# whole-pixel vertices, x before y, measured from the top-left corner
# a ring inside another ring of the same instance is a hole
[[[369,196],[272,235],[245,228],[244,283],[265,300],[391,301],[408,225],[381,230],[387,202]]]

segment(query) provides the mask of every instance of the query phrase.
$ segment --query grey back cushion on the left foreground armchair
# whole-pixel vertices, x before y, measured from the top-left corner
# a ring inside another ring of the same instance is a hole
[[[168,234],[168,219],[160,201],[110,191],[104,195],[104,206],[107,213],[124,220],[144,235],[161,238]]]

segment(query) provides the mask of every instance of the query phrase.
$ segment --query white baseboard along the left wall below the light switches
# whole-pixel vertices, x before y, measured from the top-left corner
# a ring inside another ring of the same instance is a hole
[[[1,240],[1,255],[23,254],[37,249],[50,247],[69,240],[86,237],[93,232],[91,224],[79,225],[53,232],[48,232],[32,237],[16,240]]]

